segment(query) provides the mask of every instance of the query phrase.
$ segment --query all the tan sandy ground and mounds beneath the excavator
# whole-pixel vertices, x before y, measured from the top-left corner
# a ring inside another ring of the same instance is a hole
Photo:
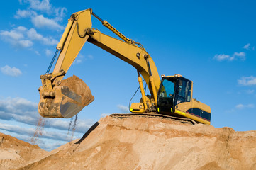
[[[47,152],[0,134],[0,169],[256,169],[256,131],[112,118]]]

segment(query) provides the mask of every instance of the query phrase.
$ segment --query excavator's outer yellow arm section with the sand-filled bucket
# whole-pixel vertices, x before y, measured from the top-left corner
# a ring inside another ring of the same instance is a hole
[[[82,23],[82,24],[79,24]],[[49,74],[50,67],[45,75],[40,76],[40,102],[38,112],[48,118],[71,118],[94,101],[89,86],[73,77],[62,81],[67,70],[77,57],[89,35],[81,35],[84,30],[91,28],[91,10],[73,13],[67,27],[57,45],[56,54],[60,51],[54,70]],[[53,62],[51,62],[52,64]]]

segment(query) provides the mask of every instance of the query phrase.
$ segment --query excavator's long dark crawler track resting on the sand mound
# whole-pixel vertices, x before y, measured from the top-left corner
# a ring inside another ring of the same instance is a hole
[[[169,120],[177,120],[181,123],[190,123],[192,125],[197,124],[194,120],[191,120],[189,118],[178,118],[172,115],[160,115],[160,114],[154,114],[154,113],[126,113],[126,114],[115,113],[115,114],[111,114],[110,116],[114,118],[129,118],[129,117],[162,118],[162,119],[169,119]]]

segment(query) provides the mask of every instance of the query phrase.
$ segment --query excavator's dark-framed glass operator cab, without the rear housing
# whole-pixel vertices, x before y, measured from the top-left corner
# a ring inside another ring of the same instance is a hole
[[[158,91],[157,113],[168,114],[175,112],[175,106],[190,102],[192,96],[192,81],[179,74],[175,76],[162,76]]]

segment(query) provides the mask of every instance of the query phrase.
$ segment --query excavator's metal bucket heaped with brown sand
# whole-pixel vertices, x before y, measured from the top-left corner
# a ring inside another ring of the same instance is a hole
[[[38,90],[38,112],[44,118],[71,118],[94,101],[89,86],[76,76],[62,80],[59,86],[54,86],[52,92],[55,97],[43,96],[42,86]]]

